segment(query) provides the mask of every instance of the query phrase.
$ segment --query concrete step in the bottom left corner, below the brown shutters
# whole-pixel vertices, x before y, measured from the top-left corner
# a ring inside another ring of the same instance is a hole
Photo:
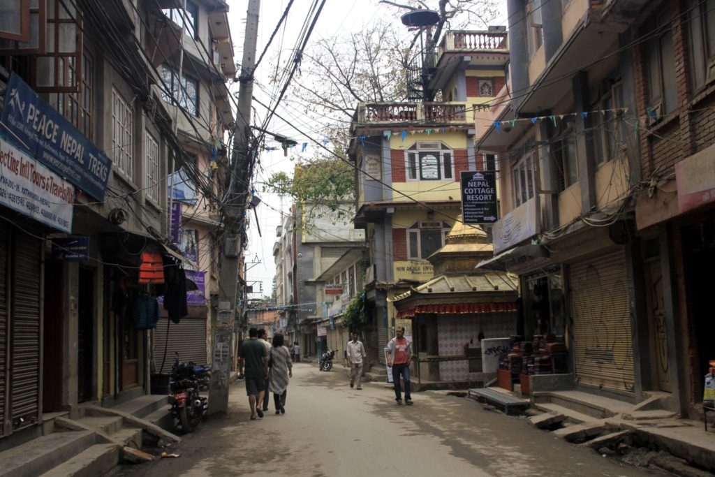
[[[0,477],[38,476],[94,446],[89,431],[55,432],[0,453]],[[116,462],[115,462],[116,463]]]

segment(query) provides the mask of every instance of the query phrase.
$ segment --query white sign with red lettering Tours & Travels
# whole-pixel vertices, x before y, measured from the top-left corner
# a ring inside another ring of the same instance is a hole
[[[62,232],[72,231],[74,187],[1,138],[0,204]]]

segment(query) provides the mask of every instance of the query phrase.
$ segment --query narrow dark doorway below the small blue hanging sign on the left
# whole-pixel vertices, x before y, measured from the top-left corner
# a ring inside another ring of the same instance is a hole
[[[92,399],[92,375],[94,359],[94,270],[79,269],[79,292],[77,293],[77,402]]]

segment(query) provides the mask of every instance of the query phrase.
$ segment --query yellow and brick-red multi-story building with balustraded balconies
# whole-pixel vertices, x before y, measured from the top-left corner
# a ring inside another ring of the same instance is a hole
[[[460,172],[493,168],[475,154],[475,111],[502,89],[508,52],[503,28],[448,31],[425,70],[430,96],[441,100],[360,104],[355,111],[355,227],[368,243],[367,297],[380,348],[396,323],[390,300],[433,277],[426,259],[445,245],[460,213]],[[409,321],[401,324],[409,334]]]

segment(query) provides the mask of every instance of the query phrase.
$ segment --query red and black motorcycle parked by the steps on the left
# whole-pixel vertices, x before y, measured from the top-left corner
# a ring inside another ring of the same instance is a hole
[[[172,390],[172,415],[183,433],[190,433],[201,423],[207,411],[207,399],[199,395],[203,378],[194,372],[194,363],[181,363],[179,353],[174,357],[169,380]]]

